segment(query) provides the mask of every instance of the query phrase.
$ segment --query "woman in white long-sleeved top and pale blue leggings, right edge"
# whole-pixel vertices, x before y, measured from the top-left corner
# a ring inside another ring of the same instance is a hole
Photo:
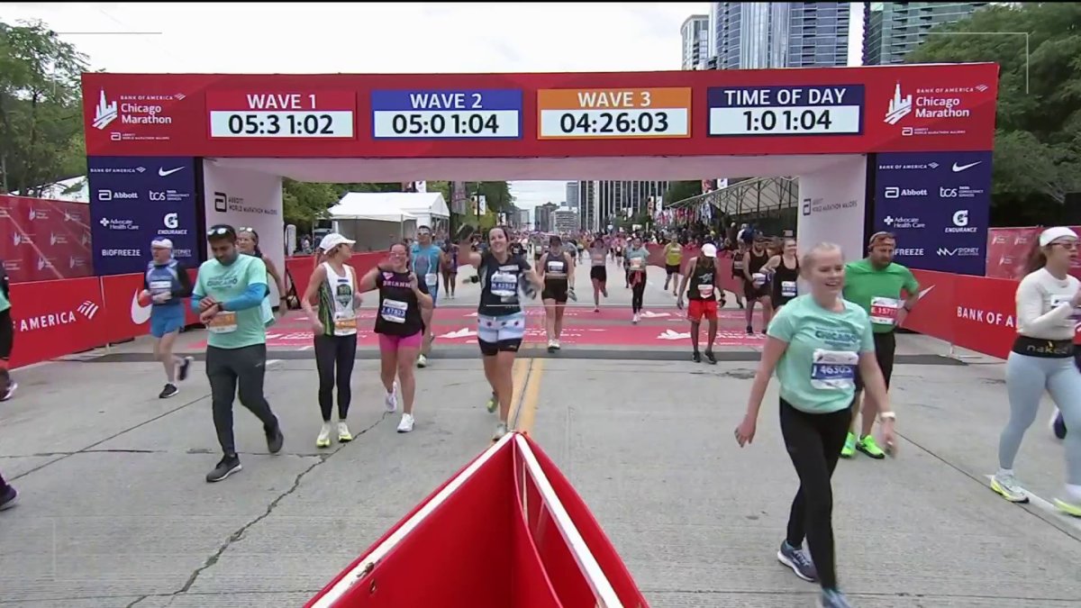
[[[1017,286],[1017,339],[1006,358],[1010,421],[999,439],[999,471],[991,489],[1010,502],[1028,502],[1013,464],[1025,432],[1051,394],[1067,427],[1081,425],[1081,372],[1073,362],[1073,323],[1081,310],[1081,281],[1069,274],[1078,257],[1078,235],[1058,226],[1040,233],[1028,274]],[[1067,434],[1066,489],[1059,511],[1081,517],[1081,435]]]

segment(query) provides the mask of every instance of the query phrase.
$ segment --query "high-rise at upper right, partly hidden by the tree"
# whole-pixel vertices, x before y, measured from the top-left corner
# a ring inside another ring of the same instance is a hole
[[[864,2],[864,65],[905,62],[936,25],[959,22],[990,2]]]

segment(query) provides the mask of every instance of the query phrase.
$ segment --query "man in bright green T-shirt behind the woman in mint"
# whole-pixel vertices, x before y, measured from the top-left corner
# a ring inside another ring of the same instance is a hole
[[[875,356],[878,358],[882,378],[885,379],[886,391],[890,389],[893,355],[897,348],[894,330],[905,322],[905,317],[920,299],[920,283],[916,281],[912,272],[893,261],[896,247],[897,241],[892,234],[876,233],[868,241],[867,257],[850,262],[844,268],[844,299],[858,304],[870,315],[871,327],[875,330]],[[907,298],[903,299],[902,292],[905,292]],[[859,450],[872,459],[882,460],[885,453],[871,434],[875,427],[875,404],[864,404],[859,417],[860,434],[858,437],[855,434],[863,386],[863,379],[857,373],[856,393],[852,400],[852,421],[841,457],[852,458],[855,450]]]

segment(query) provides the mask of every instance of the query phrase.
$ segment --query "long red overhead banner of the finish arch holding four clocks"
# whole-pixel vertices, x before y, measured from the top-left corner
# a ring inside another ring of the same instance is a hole
[[[559,179],[575,157],[989,150],[997,83],[995,64],[723,75],[85,74],[83,113],[91,155],[402,159],[415,173],[417,159],[475,158],[478,148],[464,142],[483,141],[485,158],[565,159],[545,166],[559,175],[533,177]],[[425,172],[435,176],[432,167]],[[410,179],[388,177],[377,162],[350,169],[355,180]]]

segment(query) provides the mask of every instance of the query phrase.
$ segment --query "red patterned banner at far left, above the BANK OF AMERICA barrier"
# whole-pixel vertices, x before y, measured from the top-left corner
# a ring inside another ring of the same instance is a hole
[[[93,274],[90,207],[0,195],[0,260],[13,282]]]

